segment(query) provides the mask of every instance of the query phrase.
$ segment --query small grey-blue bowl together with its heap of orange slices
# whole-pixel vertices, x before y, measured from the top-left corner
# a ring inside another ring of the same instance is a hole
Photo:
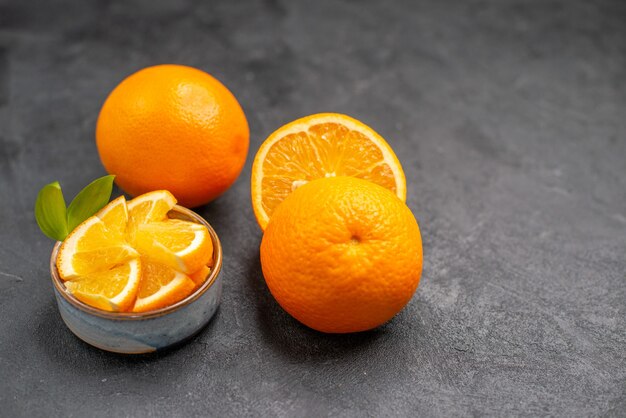
[[[211,225],[165,190],[120,196],[53,248],[67,327],[100,349],[139,354],[193,336],[217,310],[222,247]]]

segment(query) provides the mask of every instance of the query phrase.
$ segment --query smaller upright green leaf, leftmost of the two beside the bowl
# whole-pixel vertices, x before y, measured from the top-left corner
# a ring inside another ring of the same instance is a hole
[[[37,195],[35,219],[47,237],[63,241],[68,234],[63,191],[58,181],[45,185]]]

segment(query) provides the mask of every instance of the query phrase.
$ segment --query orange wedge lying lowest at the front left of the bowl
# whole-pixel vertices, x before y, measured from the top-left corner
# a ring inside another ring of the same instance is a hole
[[[65,282],[65,287],[88,305],[105,311],[126,311],[135,301],[141,271],[139,259],[133,259],[112,269]]]

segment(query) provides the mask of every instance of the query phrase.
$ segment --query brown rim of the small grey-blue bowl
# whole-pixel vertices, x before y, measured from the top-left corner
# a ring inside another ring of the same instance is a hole
[[[187,296],[184,299],[179,300],[178,302],[152,311],[147,312],[109,312],[104,311],[102,309],[98,309],[91,305],[87,305],[84,302],[78,300],[74,295],[72,295],[63,285],[63,281],[59,276],[59,272],[56,266],[56,259],[59,253],[59,248],[61,247],[62,242],[57,241],[52,248],[52,254],[50,255],[50,275],[52,276],[52,283],[54,284],[57,293],[61,295],[61,297],[68,302],[70,305],[74,306],[76,309],[85,312],[86,314],[98,316],[106,319],[113,320],[145,320],[151,318],[157,318],[163,315],[167,315],[172,312],[176,312],[185,306],[191,304],[200,296],[202,296],[209,288],[211,288],[215,282],[217,281],[217,277],[222,270],[222,245],[220,243],[219,237],[217,233],[213,229],[213,227],[200,215],[191,209],[187,209],[183,206],[175,205],[174,208],[170,211],[170,213],[179,213],[182,214],[183,217],[190,218],[189,220],[193,222],[200,223],[207,227],[209,230],[209,235],[211,236],[211,241],[213,242],[213,266],[211,267],[211,272],[209,273],[209,277],[204,281],[202,286],[196,289],[192,294]]]

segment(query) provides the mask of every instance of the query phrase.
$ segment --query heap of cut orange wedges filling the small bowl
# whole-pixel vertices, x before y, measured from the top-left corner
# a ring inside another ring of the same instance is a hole
[[[56,260],[66,289],[107,311],[150,311],[191,294],[210,271],[213,242],[204,225],[170,219],[175,204],[164,190],[119,197],[80,224]]]

